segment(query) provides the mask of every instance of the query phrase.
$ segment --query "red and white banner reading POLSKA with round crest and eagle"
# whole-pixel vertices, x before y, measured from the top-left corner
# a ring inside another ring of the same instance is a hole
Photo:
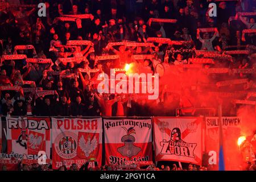
[[[52,118],[52,168],[80,168],[88,160],[101,166],[102,119]]]

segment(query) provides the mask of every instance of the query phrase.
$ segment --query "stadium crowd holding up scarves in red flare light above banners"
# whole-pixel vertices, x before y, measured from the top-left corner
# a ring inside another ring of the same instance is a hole
[[[40,2],[46,5],[45,17],[39,17],[37,7]],[[256,1],[215,2],[216,17],[209,16],[208,5],[211,2],[215,1],[0,0],[2,57],[0,115],[46,117],[201,115],[205,112],[195,109],[196,107],[216,108],[217,106],[214,103],[217,102],[216,97],[212,95],[209,95],[210,98],[203,97],[200,94],[202,91],[254,91],[255,72],[254,74],[226,72],[221,75],[204,73],[207,81],[200,82],[200,86],[196,85],[196,89],[189,82],[190,78],[197,80],[202,78],[201,75],[196,75],[198,70],[196,65],[204,69],[253,68],[254,70],[256,68],[256,32],[249,31],[248,34],[243,34],[243,30],[256,30],[256,15],[240,14],[256,13]],[[176,21],[164,22],[160,19]],[[210,31],[204,31],[205,28]],[[166,39],[150,41],[151,38]],[[166,43],[167,39],[171,41]],[[72,45],[69,44],[71,40],[89,42],[86,45]],[[114,44],[117,42],[122,43]],[[176,47],[175,42],[183,43]],[[142,46],[136,46],[138,44],[127,46],[127,43],[142,43]],[[32,45],[32,48],[26,45]],[[180,49],[187,51],[175,52]],[[206,53],[218,52],[221,55],[225,55],[222,53],[226,51],[247,52],[233,53],[231,60],[216,58],[214,64],[210,62],[195,64],[194,58],[202,58],[202,55],[197,55],[195,50]],[[6,55],[26,55],[26,57],[16,56],[5,59],[8,57]],[[97,59],[109,55],[118,55],[118,59]],[[151,55],[151,58],[134,60],[131,58],[133,55]],[[31,58],[32,61],[26,58]],[[33,61],[33,58],[51,60],[40,63]],[[65,61],[68,58],[72,58],[73,61]],[[176,77],[160,77],[160,82],[163,84],[159,84],[158,100],[148,101],[143,96],[133,98],[125,94],[97,93],[99,73],[110,75],[111,68],[122,69],[126,64],[135,65],[134,69],[139,72],[156,73],[156,65],[159,63],[164,67],[164,74],[174,71],[172,74]],[[196,71],[189,72],[192,65],[195,65]],[[176,78],[178,81],[175,80]],[[216,86],[218,81],[238,78],[245,78],[246,81],[235,84],[236,86],[232,84]],[[170,85],[179,85],[181,89],[177,89],[179,91],[176,92],[175,86]],[[245,99],[246,96],[239,98]],[[255,96],[250,101],[254,102],[254,99]],[[224,104],[223,113],[236,115],[238,106],[241,104],[228,100]],[[255,167],[250,165],[247,169]],[[51,170],[50,168],[39,164],[31,166],[20,164],[19,167],[24,171]],[[79,170],[75,164],[72,169]],[[104,166],[90,169],[113,168]],[[148,169],[180,170],[175,165],[172,168],[151,166]],[[59,170],[67,169],[63,166]],[[207,170],[207,168],[196,168],[191,164],[188,170]]]

